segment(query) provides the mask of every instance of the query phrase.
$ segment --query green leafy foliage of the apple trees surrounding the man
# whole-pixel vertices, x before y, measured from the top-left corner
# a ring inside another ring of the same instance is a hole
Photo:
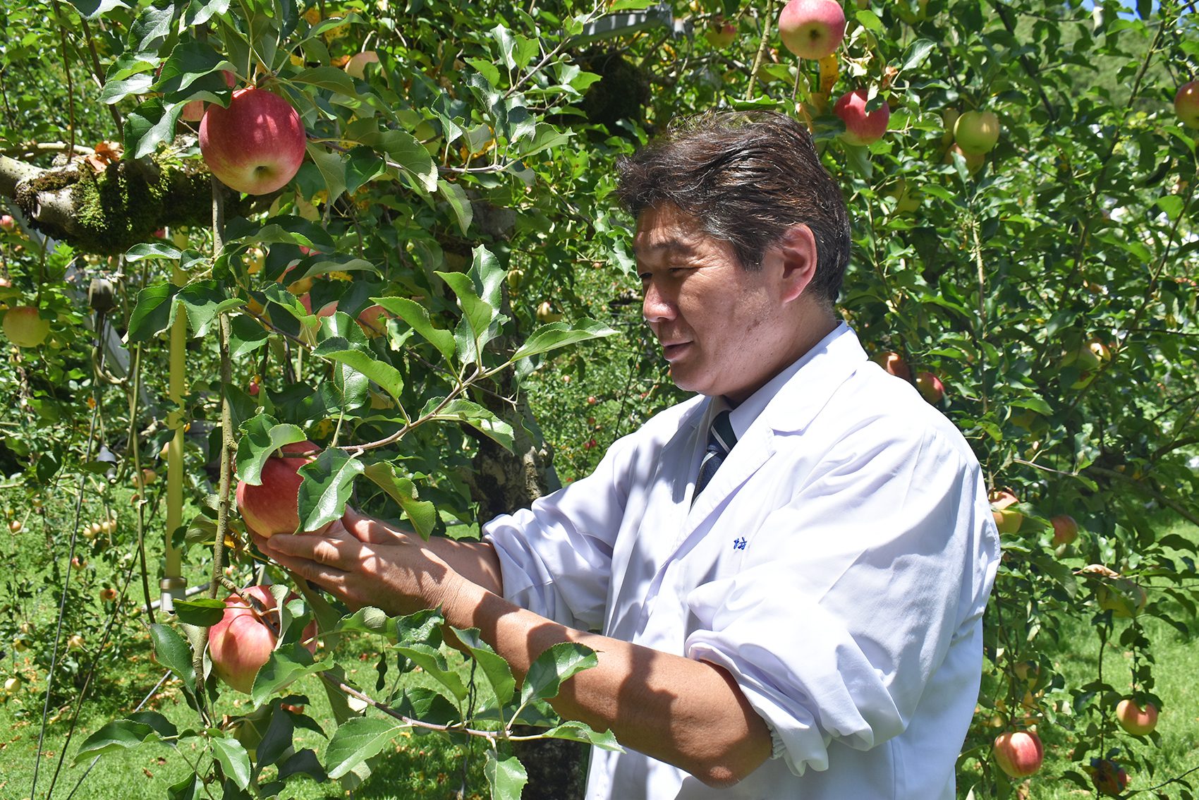
[[[585,473],[614,437],[676,397],[638,325],[628,222],[610,197],[614,160],[676,115],[775,108],[809,124],[849,200],[844,315],[873,353],[898,353],[914,374],[945,383],[941,408],[988,485],[1020,500],[986,620],[963,793],[1012,794],[989,742],[1028,724],[1071,732],[1077,766],[1066,777],[1079,787],[1090,788],[1091,758],[1113,747],[1133,786],[1146,786],[1138,770],[1150,771],[1151,751],[1117,735],[1113,710],[1127,694],[1170,708],[1155,693],[1150,632],[1163,628],[1144,622],[1187,633],[1194,618],[1195,546],[1158,535],[1149,513],[1199,519],[1195,132],[1170,108],[1199,70],[1193,14],[1175,0],[1131,12],[1111,1],[862,0],[846,8],[836,59],[815,65],[779,49],[781,2],[680,1],[673,13],[689,35],[647,25],[608,38],[589,23],[651,4],[604,5],[77,0],[6,10],[6,30],[26,31],[2,53],[7,156],[53,167],[80,152],[97,172],[150,155],[197,166],[195,128],[181,114],[189,102],[228,104],[225,71],[236,86],[284,96],[309,137],[282,193],[200,198],[215,206],[212,229],[164,230],[112,260],[47,240],[20,212],[19,229],[0,234],[0,277],[11,283],[0,302],[35,305],[53,321],[47,344],[14,348],[0,367],[13,409],[0,420],[8,503],[29,519],[35,494],[78,486],[84,505],[107,515],[114,486],[133,481],[137,505],[101,558],[150,573],[141,533],[165,528],[186,561],[211,573],[215,597],[227,558],[235,575],[254,564],[228,513],[229,471],[253,482],[285,444],[321,450],[302,471],[307,529],[351,498],[422,535],[472,525],[480,458],[492,444],[536,450],[542,428],[561,474]],[[715,46],[704,32],[723,20],[737,38]],[[361,78],[342,68],[368,50],[378,62]],[[831,112],[857,88],[892,109],[891,130],[869,148],[844,144]],[[1002,124],[981,166],[952,150],[953,120],[970,109]],[[118,140],[123,156],[96,145]],[[112,308],[89,306],[91,278],[115,287]],[[538,325],[543,303],[579,321]],[[363,317],[373,306],[385,314],[379,327]],[[558,353],[591,339],[603,341]],[[1092,343],[1093,361],[1080,354]],[[180,386],[168,378],[169,353],[180,359],[183,348]],[[536,419],[524,413],[526,393]],[[180,493],[199,510],[191,521],[177,517],[177,499],[156,517],[165,491],[143,470],[167,473],[165,462],[174,475],[187,467]],[[1079,522],[1076,542],[1054,542],[1049,519],[1060,513]],[[78,545],[76,517],[65,521],[70,534],[48,534],[48,569]],[[52,575],[74,630],[84,601],[68,573]],[[18,602],[29,591],[10,589]],[[1120,591],[1128,618],[1101,603]],[[614,745],[555,722],[542,702],[586,667],[586,654],[550,651],[546,681],[529,679],[518,694],[471,631],[452,631],[472,664],[463,679],[436,616],[341,615],[315,595],[289,613],[315,615],[330,640],[375,637],[384,655],[374,691],[283,631],[252,708],[222,720],[204,660],[211,609],[177,609],[179,626],[149,609],[146,624],[195,716],[182,726],[152,714],[113,721],[84,751],[195,745],[205,757],[173,788],[179,796],[209,783],[270,796],[295,776],[354,788],[414,728],[486,742],[483,771],[505,798],[524,783],[508,750],[514,722]],[[1102,660],[1085,678],[1055,669],[1052,654],[1080,620],[1103,648],[1132,654],[1127,676],[1113,678]],[[398,675],[420,667],[432,687],[385,680],[391,663]],[[301,676],[330,690],[336,726],[321,730],[321,756],[293,746],[296,730],[317,724],[285,708]],[[363,715],[367,705],[376,711]],[[1176,786],[1188,793],[1187,781]]]

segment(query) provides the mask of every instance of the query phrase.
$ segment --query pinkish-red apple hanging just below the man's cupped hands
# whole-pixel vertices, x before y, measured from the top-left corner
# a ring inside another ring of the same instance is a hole
[[[251,608],[237,595],[225,597],[225,612],[221,621],[209,631],[209,656],[217,678],[225,684],[249,694],[254,687],[254,678],[275,650],[278,630],[278,616],[271,613],[275,608],[275,595],[266,587],[249,587],[242,595],[261,603],[263,608]],[[288,600],[295,595],[289,595]],[[265,618],[265,621],[264,621]],[[301,640],[312,652],[317,651],[317,624],[309,622],[301,634]]]

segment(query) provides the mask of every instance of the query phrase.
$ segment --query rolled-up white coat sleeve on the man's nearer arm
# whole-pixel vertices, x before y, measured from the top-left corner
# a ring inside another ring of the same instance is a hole
[[[869,750],[903,733],[994,578],[998,534],[964,445],[881,427],[838,441],[742,534],[742,569],[687,597],[687,655],[729,669],[796,775],[827,769],[833,740]]]

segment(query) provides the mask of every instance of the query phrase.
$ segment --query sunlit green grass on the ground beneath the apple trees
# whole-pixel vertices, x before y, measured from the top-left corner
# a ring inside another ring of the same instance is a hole
[[[0,505],[16,505],[12,500],[14,499],[0,495]],[[119,533],[112,542],[97,540],[101,543],[89,545],[83,552],[86,564],[76,570],[72,577],[74,594],[64,636],[79,632],[86,644],[82,651],[68,650],[65,655],[82,664],[89,663],[95,655],[91,648],[98,643],[100,631],[112,612],[110,606],[98,601],[98,590],[112,584],[113,576],[128,564],[128,555],[133,552],[128,541],[128,531],[132,530],[131,511],[127,504],[122,506],[116,503],[112,507],[116,509],[120,517]],[[91,507],[85,516],[89,515],[96,517],[101,515],[101,510]],[[25,519],[31,524],[20,535],[0,535],[0,561],[8,565],[8,570],[0,573],[0,585],[7,588],[6,594],[0,595],[0,648],[7,650],[5,657],[0,658],[0,679],[19,674],[26,681],[18,692],[0,703],[0,800],[30,796],[46,687],[44,651],[40,651],[38,642],[35,640],[35,646],[28,651],[16,652],[8,646],[8,640],[19,636],[22,622],[34,625],[32,637],[40,642],[48,642],[53,634],[61,587],[61,572],[55,577],[55,570],[61,570],[61,564],[55,566],[52,557],[66,552],[71,509],[52,509],[48,505],[48,524],[44,529],[37,524],[38,516],[30,515]],[[161,529],[161,523],[157,527]],[[1164,523],[1162,531],[1199,541],[1199,529],[1186,524]],[[159,549],[157,542],[151,542],[151,564],[157,563]],[[197,557],[198,553],[193,554],[193,559]],[[60,555],[59,560],[65,560],[65,557]],[[203,561],[191,569],[191,585],[205,579],[204,571],[207,567]],[[140,596],[140,590],[132,596]],[[182,758],[167,747],[153,745],[106,754],[90,771],[88,762],[72,764],[74,752],[88,735],[106,722],[133,711],[164,674],[150,658],[149,638],[141,618],[122,614],[115,621],[109,644],[103,650],[101,669],[83,704],[74,736],[66,746],[67,758],[56,778],[54,798],[67,798],[77,784],[73,796],[89,800],[162,798],[167,787],[187,774],[187,764]],[[1117,624],[1116,638],[1127,625],[1128,622]],[[1194,675],[1199,674],[1199,648],[1194,643],[1199,622],[1189,619],[1187,633],[1150,618],[1143,620],[1143,626],[1145,636],[1152,642],[1151,652],[1156,660],[1153,674],[1157,681],[1155,691],[1163,699],[1164,708],[1156,742],[1138,741],[1114,727],[1109,734],[1108,746],[1119,746],[1125,751],[1121,760],[1131,775],[1129,790],[1157,787],[1199,766],[1199,685],[1194,680]],[[348,658],[342,661],[350,662],[351,678],[359,679],[361,685],[373,686],[378,640],[350,640],[342,646],[347,648]],[[1089,620],[1070,620],[1066,624],[1053,660],[1066,686],[1079,686],[1096,676],[1099,643]],[[1103,651],[1104,680],[1117,691],[1127,691],[1131,686],[1129,660],[1129,652],[1119,643],[1109,643]],[[38,798],[47,796],[64,748],[71,700],[76,696],[70,674],[60,673],[58,685],[64,688],[64,703],[52,711],[47,724],[43,757],[38,766]],[[307,714],[327,724],[331,712],[317,679],[303,679],[294,691],[309,698]],[[231,692],[223,696],[218,712],[245,711],[246,706],[239,705],[234,697]],[[1026,784],[1023,796],[1031,800],[1091,796],[1089,787],[1080,788],[1064,777],[1067,771],[1078,770],[1078,765],[1071,760],[1077,744],[1076,732],[1085,730],[1090,718],[1072,715],[1070,704],[1073,698],[1065,691],[1050,693],[1046,699],[1056,703],[1059,712],[1056,720],[1042,721],[1038,726],[1047,748],[1046,764]],[[150,697],[145,708],[161,711],[180,727],[199,724],[195,712],[183,702],[177,681],[164,684]],[[318,754],[323,754],[324,740],[315,734],[302,733],[308,736],[303,746],[313,747]],[[390,747],[392,751],[372,777],[354,792],[354,796],[370,800],[448,800],[488,794],[478,747],[469,759],[464,758],[460,748],[433,736],[399,736]],[[960,798],[966,796],[970,778],[970,772],[960,777]],[[465,792],[460,795],[464,786]],[[344,795],[333,783],[317,784],[312,781],[289,783],[285,794],[299,800]],[[992,795],[981,790],[975,793],[976,800],[989,796]],[[1168,784],[1146,793],[1146,796],[1182,800],[1189,795],[1180,784]]]

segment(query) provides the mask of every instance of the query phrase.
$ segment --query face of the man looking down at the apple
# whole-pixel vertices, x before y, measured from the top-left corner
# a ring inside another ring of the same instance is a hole
[[[790,363],[778,270],[748,272],[733,245],[673,205],[641,212],[633,236],[643,314],[680,389],[740,403]]]

